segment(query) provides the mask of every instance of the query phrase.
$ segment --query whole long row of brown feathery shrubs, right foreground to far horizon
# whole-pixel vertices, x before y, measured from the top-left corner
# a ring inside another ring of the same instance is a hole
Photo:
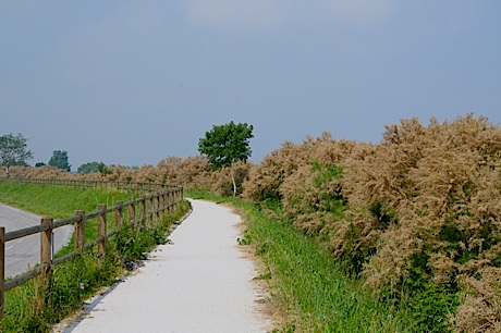
[[[257,164],[217,170],[201,155],[85,175],[49,166],[10,173],[175,183],[240,197],[327,250],[379,303],[410,313],[405,330],[501,332],[501,127],[482,116],[402,120],[384,127],[379,144],[308,136]],[[326,328],[318,330],[337,330]]]

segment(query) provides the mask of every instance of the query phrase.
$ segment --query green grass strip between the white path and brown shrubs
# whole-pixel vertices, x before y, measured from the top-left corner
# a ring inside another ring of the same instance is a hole
[[[187,195],[240,209],[246,231],[239,243],[262,259],[265,271],[257,279],[269,283],[270,305],[283,320],[276,332],[414,332],[403,304],[378,300],[333,260],[326,245],[249,202],[200,192]]]

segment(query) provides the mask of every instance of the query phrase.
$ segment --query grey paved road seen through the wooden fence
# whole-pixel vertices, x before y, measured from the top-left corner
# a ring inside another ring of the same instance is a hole
[[[40,217],[0,203],[0,225],[5,233],[40,224]],[[66,245],[72,227],[64,226],[54,231],[56,250]],[[5,276],[14,276],[40,262],[40,235],[10,240],[5,243]]]

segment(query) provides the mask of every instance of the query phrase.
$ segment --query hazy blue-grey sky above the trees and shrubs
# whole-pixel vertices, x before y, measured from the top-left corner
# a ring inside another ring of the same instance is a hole
[[[501,123],[501,1],[0,0],[0,135],[34,159],[156,165],[213,125],[258,163],[323,132]]]

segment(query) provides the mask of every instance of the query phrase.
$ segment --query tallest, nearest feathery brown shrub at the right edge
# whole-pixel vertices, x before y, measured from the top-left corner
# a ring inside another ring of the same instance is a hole
[[[402,121],[387,126],[381,144],[357,146],[346,161],[343,194],[352,206],[386,221],[382,229],[374,220],[365,221],[367,229],[356,235],[354,248],[377,245],[366,258],[367,284],[395,285],[410,267],[419,268],[423,278],[437,285],[456,283],[459,274],[472,282],[478,272],[499,267],[500,151],[501,128],[473,115],[443,123],[431,120],[427,127],[416,119]],[[379,238],[363,237],[371,232]],[[343,229],[338,235],[351,236]],[[345,246],[343,238],[332,242],[337,249]],[[498,297],[492,288],[485,293],[484,297]],[[465,305],[479,304],[472,297],[466,296]],[[467,319],[476,316],[468,309],[459,311],[459,328],[475,321]],[[486,321],[489,330],[499,328],[496,320]]]

